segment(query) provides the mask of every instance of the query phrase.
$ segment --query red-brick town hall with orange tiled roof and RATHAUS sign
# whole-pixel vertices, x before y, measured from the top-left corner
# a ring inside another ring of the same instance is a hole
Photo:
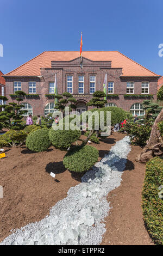
[[[84,51],[83,68],[78,51],[46,51],[4,75],[9,102],[16,90],[23,90],[27,93],[24,108],[29,113],[53,112],[55,74],[58,94],[72,93],[80,113],[87,109],[86,102],[92,93],[103,90],[104,77],[108,74],[108,106],[139,115],[144,113],[143,100],[156,99],[160,77],[117,51]]]

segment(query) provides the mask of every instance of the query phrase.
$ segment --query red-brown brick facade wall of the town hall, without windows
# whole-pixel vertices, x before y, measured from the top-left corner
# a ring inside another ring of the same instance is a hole
[[[55,81],[55,73],[57,73],[58,94],[62,94],[66,89],[67,75],[73,76],[73,94],[75,94],[78,102],[87,102],[91,99],[92,94],[89,93],[90,82],[89,76],[96,75],[96,90],[103,90],[104,76],[108,74],[108,82],[114,82],[114,94],[119,94],[118,99],[108,99],[108,103],[115,103],[127,111],[131,105],[136,102],[141,103],[144,99],[124,99],[126,94],[127,81],[135,83],[135,94],[141,94],[141,82],[149,82],[149,94],[154,95],[156,99],[158,78],[154,77],[121,77],[122,69],[108,68],[110,62],[91,62],[83,58],[83,69],[80,68],[80,59],[71,62],[52,62],[53,68],[41,69],[41,77],[5,77],[6,80],[6,96],[11,102],[9,94],[14,93],[14,81],[21,81],[23,92],[28,92],[28,82],[36,82],[36,94],[39,94],[39,99],[24,99],[23,102],[30,103],[33,107],[33,115],[44,115],[44,108],[48,102],[54,102],[53,99],[47,99],[45,94],[49,93],[49,82]],[[78,76],[84,75],[84,95],[78,94]]]

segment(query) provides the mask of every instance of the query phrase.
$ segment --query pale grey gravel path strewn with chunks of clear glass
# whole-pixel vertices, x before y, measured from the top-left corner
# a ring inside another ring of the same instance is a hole
[[[71,187],[67,197],[53,206],[49,216],[9,235],[0,245],[99,245],[110,210],[107,194],[121,184],[130,152],[129,137],[111,148],[101,162]]]

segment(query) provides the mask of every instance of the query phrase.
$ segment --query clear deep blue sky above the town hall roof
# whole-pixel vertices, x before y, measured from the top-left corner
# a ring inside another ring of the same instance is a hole
[[[43,51],[117,50],[156,74],[162,36],[162,0],[0,1],[3,57],[7,73]]]

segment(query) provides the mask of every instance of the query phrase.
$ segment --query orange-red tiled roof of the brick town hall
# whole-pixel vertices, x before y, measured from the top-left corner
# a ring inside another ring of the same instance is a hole
[[[51,61],[70,61],[79,51],[46,51],[6,74],[7,76],[39,76],[40,68],[51,68]],[[83,57],[94,61],[111,60],[112,68],[122,68],[122,76],[159,76],[118,51],[83,51]]]

